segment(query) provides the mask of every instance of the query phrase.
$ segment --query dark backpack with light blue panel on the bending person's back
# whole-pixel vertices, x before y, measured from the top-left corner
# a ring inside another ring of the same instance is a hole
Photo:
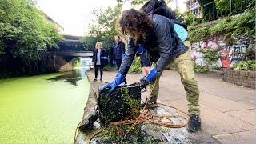
[[[174,32],[178,35],[178,38],[184,42],[188,37],[187,26],[178,21],[176,15],[168,6],[166,6],[166,2],[164,0],[150,0],[142,6],[140,11],[146,13],[150,18],[152,18],[153,14],[169,18],[170,21],[174,22]]]

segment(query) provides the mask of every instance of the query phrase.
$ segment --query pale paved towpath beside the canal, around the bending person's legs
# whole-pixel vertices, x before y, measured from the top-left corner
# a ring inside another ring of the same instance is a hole
[[[104,72],[110,81],[116,72]],[[142,74],[128,74],[128,83],[138,82]],[[210,74],[197,74],[201,91],[202,130],[222,143],[256,142],[255,90],[223,82]],[[176,71],[166,70],[160,79],[159,98],[170,106],[187,111],[186,93]],[[200,133],[198,133],[200,134]]]

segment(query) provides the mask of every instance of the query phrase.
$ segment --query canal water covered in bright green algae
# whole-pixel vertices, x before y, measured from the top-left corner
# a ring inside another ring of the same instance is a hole
[[[84,75],[0,79],[0,143],[73,143],[90,87]]]

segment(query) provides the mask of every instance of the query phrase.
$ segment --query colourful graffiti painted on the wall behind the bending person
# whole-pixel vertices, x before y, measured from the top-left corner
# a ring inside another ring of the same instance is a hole
[[[203,58],[201,49],[218,49],[218,54],[221,56],[215,66],[219,67],[230,67],[235,62],[245,58],[246,48],[248,44],[246,43],[246,38],[240,37],[234,45],[228,46],[222,40],[221,36],[216,36],[214,38],[208,39],[207,41],[194,42],[191,44],[192,58],[194,62],[198,65],[205,66],[206,62]]]

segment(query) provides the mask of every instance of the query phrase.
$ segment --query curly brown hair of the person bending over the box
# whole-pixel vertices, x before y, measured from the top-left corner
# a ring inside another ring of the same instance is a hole
[[[142,11],[125,10],[117,22],[117,29],[121,34],[130,34],[137,42],[153,29],[152,20]]]

